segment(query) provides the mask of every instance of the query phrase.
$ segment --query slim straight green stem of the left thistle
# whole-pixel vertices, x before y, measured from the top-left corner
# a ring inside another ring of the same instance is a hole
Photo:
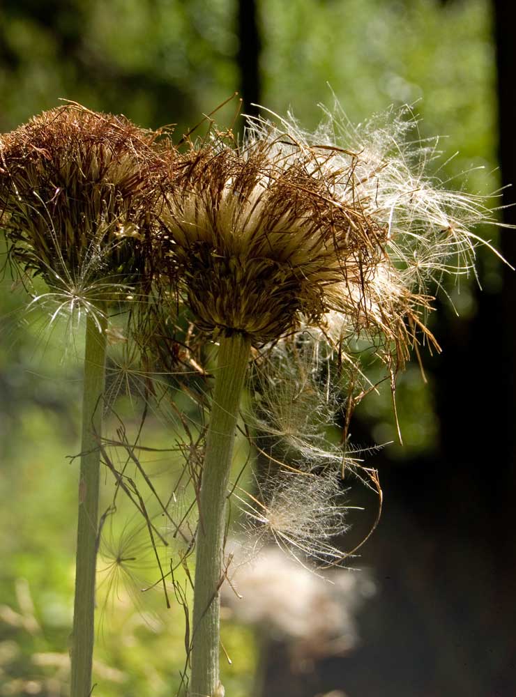
[[[88,697],[91,693],[100,480],[98,441],[102,427],[106,355],[105,329],[107,320],[105,316],[99,319],[99,324],[100,327],[91,316],[88,316],[86,320],[86,347],[84,349],[75,606],[70,648],[72,661],[71,697]]]

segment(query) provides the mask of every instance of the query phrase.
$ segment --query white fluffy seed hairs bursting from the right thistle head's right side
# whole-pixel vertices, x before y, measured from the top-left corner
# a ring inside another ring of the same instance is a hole
[[[337,201],[359,202],[370,219],[385,226],[384,256],[363,267],[367,285],[345,282],[327,289],[331,312],[321,328],[342,350],[342,338],[351,334],[379,347],[392,377],[415,342],[436,345],[425,329],[433,300],[428,293],[446,276],[474,273],[476,246],[492,249],[476,227],[496,220],[485,197],[446,190],[432,174],[437,169],[432,160],[440,155],[437,139],[420,139],[409,109],[390,110],[356,127],[337,102],[324,113],[314,133],[303,131],[290,114],[277,125],[252,119],[250,137],[265,139],[285,162],[311,155],[314,171],[331,183]],[[349,176],[342,176],[346,172]]]

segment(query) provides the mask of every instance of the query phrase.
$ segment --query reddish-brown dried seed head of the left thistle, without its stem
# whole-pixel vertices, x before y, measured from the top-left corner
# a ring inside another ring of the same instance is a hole
[[[95,314],[143,278],[162,171],[155,138],[74,103],[0,137],[8,258],[23,279],[44,279],[57,314]]]

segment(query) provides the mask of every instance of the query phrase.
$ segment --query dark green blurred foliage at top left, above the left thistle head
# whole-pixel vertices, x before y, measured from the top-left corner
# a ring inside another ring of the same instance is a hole
[[[0,128],[58,98],[153,128],[184,127],[235,89],[233,14],[225,0],[7,1]]]

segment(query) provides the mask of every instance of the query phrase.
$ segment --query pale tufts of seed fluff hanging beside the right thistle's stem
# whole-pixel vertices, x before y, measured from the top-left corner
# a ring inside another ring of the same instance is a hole
[[[336,363],[331,348],[309,332],[275,342],[252,363],[252,399],[243,411],[259,454],[256,491],[236,496],[252,548],[274,541],[319,569],[352,556],[335,539],[349,527],[343,489],[349,474],[378,493],[381,511],[376,471],[347,438],[357,367]]]

